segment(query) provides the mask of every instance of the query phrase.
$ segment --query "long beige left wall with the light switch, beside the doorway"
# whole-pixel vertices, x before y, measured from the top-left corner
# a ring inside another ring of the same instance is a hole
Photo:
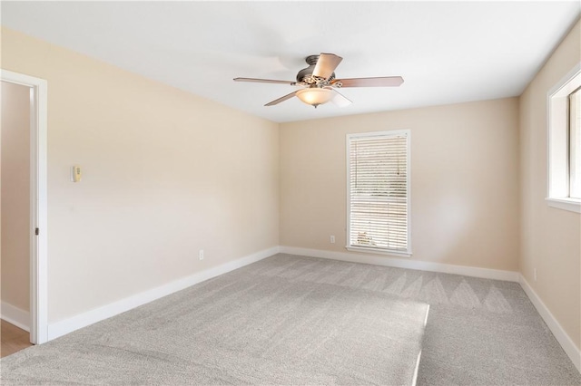
[[[2,33],[48,83],[49,323],[279,245],[276,123]]]

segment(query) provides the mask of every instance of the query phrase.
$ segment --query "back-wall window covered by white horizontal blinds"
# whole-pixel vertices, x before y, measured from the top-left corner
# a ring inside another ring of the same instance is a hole
[[[347,249],[411,255],[409,130],[347,136]]]

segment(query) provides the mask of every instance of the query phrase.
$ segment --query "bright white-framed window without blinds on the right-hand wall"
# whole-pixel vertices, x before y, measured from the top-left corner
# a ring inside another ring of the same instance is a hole
[[[548,93],[548,184],[551,207],[581,213],[581,63]]]

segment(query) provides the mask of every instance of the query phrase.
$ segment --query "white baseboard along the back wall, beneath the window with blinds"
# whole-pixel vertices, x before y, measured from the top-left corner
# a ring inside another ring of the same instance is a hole
[[[347,252],[323,251],[320,249],[297,248],[294,246],[281,246],[281,253],[300,256],[322,257],[333,260],[349,261],[351,263],[385,265],[393,266],[396,268],[408,268],[420,271],[439,272],[443,274],[481,277],[484,279],[504,280],[507,282],[516,282],[516,283],[518,283],[519,276],[517,272],[502,271],[499,269],[431,263],[428,261],[412,260],[409,258],[396,258],[388,256],[354,254]]]

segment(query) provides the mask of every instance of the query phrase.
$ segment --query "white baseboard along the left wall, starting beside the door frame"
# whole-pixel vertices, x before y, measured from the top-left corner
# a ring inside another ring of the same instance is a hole
[[[241,257],[237,260],[231,261],[230,263],[218,265],[197,274],[184,277],[180,280],[168,283],[167,285],[161,285],[141,294],[135,294],[112,304],[103,305],[102,307],[88,311],[84,314],[78,314],[60,322],[51,323],[48,325],[48,340],[50,341],[52,339],[58,338],[59,336],[63,336],[66,333],[72,333],[75,330],[83,328],[87,325],[100,322],[116,314],[122,314],[125,311],[129,311],[140,305],[153,302],[153,300],[159,299],[168,294],[173,294],[189,286],[202,283],[203,281],[211,279],[212,277],[226,274],[230,271],[233,271],[234,269],[255,263],[259,260],[276,255],[278,253],[279,246],[274,246],[270,249],[265,249],[255,254]]]

